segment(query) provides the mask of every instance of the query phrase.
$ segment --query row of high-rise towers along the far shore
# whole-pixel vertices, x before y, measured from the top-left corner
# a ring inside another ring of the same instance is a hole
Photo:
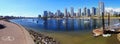
[[[74,7],[70,7],[70,11],[68,11],[69,9],[65,8],[64,12],[61,12],[60,10],[57,10],[55,13],[51,12],[51,11],[44,11],[43,13],[43,17],[44,18],[68,18],[68,17],[81,17],[81,16],[102,16],[102,13],[105,13],[105,5],[104,2],[99,2],[98,8],[96,7],[92,7],[92,9],[90,10],[87,7],[83,8],[83,11],[81,11],[82,9],[79,8],[77,12],[74,12]],[[41,16],[41,15],[40,15]]]

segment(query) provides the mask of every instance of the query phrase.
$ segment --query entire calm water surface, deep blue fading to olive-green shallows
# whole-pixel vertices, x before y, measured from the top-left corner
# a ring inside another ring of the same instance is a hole
[[[54,37],[61,44],[119,44],[116,35],[94,38],[92,30],[102,26],[100,19],[14,19],[14,23]],[[120,20],[112,19],[111,25]],[[105,24],[107,26],[107,20]]]

